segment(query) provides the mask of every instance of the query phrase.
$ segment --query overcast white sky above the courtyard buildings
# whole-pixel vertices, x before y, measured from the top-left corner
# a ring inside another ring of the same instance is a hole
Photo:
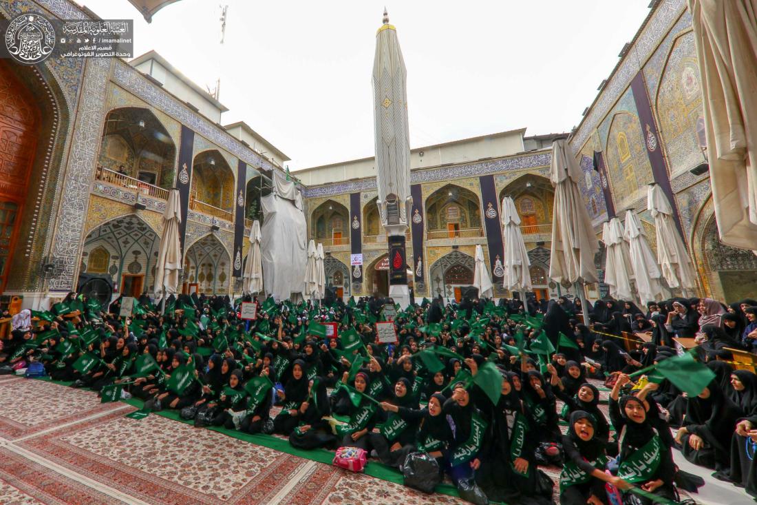
[[[246,121],[292,170],[373,155],[371,72],[384,5],[405,64],[413,148],[527,127],[569,131],[649,0],[180,0],[147,24],[126,0],[79,0],[135,20],[200,86],[221,79],[222,123]],[[229,5],[226,42],[220,4]]]

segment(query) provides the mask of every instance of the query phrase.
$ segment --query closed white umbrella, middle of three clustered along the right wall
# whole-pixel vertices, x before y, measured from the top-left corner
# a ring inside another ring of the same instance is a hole
[[[631,270],[634,272],[634,282],[641,303],[662,300],[662,272],[652,253],[650,243],[646,240],[641,221],[634,212],[625,213],[625,240],[631,254]]]

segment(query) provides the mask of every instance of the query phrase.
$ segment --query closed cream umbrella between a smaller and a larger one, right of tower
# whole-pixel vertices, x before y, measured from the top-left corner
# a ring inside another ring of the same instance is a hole
[[[519,291],[525,303],[525,292],[532,289],[531,272],[528,271],[531,260],[528,259],[528,251],[525,249],[520,223],[515,202],[509,196],[505,196],[502,199],[502,236],[505,240],[503,251],[505,274],[502,286],[510,291]]]

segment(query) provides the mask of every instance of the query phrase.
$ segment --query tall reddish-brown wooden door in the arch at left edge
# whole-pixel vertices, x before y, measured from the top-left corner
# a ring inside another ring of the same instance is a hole
[[[40,122],[36,99],[0,60],[0,293],[16,248]]]

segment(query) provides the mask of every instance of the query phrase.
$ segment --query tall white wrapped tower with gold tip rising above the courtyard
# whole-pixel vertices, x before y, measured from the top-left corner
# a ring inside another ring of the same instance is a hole
[[[410,133],[407,127],[407,71],[397,30],[384,24],[376,32],[373,60],[373,121],[378,213],[389,244],[389,296],[402,306],[410,302],[407,288],[405,232],[410,206]]]

